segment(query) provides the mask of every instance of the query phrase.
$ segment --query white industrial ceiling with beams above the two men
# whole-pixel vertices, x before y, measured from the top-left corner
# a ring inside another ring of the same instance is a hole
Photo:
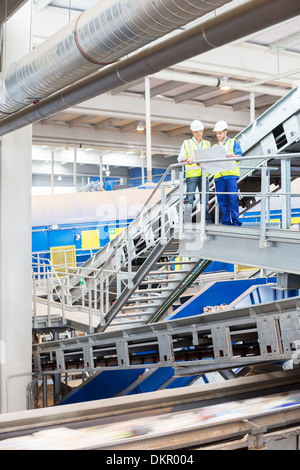
[[[24,2],[14,3],[19,7]],[[96,0],[33,0],[33,47],[95,3]],[[220,10],[243,3],[233,0]],[[230,135],[236,135],[299,83],[299,31],[300,16],[296,16],[150,76],[152,153],[157,165],[167,168],[175,161],[182,140],[190,135],[191,120],[197,118],[204,122],[205,137],[212,142],[218,119],[226,120]],[[208,78],[215,79],[218,86],[206,85]],[[220,89],[224,78],[231,85],[226,91]],[[140,122],[145,123],[144,78],[35,123],[33,143],[39,149],[76,145],[103,155],[122,152],[122,161],[116,160],[113,165],[117,176],[118,168],[127,165],[126,152],[127,155],[136,152],[139,156],[145,153],[145,133],[137,131]],[[42,171],[38,167],[44,168],[43,159],[40,152],[37,172]],[[66,160],[66,156],[61,159]],[[84,163],[98,164],[93,152],[86,152],[84,159],[82,167]],[[135,163],[128,160],[130,165]]]

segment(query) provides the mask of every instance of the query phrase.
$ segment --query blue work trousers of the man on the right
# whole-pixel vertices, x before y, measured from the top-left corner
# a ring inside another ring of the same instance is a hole
[[[237,178],[224,177],[215,180],[217,193],[236,193],[236,194],[217,194],[218,204],[221,210],[221,223],[223,225],[241,226],[239,221],[239,199],[237,195]]]

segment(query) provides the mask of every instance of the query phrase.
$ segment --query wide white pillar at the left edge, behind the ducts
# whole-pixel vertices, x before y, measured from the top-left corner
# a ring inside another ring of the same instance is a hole
[[[31,2],[5,25],[2,68],[30,48]],[[32,126],[7,134],[0,151],[0,413],[26,409],[32,380]]]

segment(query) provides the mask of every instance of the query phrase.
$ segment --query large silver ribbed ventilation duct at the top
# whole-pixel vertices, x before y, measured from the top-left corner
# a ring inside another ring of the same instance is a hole
[[[100,0],[0,75],[0,117],[38,102],[229,0]]]

